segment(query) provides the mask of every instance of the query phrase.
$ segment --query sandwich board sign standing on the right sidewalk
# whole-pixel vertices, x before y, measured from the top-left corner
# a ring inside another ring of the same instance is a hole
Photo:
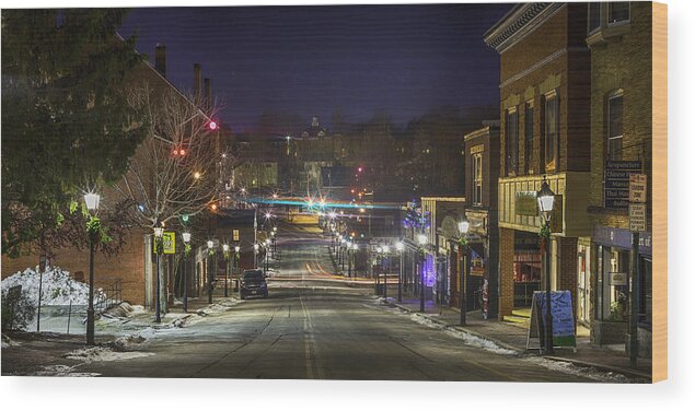
[[[526,350],[541,350],[545,347],[543,338],[545,336],[545,291],[533,293]],[[572,298],[569,291],[551,292],[551,314],[553,315],[553,347],[571,348],[577,351]],[[531,347],[531,339],[537,339],[538,347]]]

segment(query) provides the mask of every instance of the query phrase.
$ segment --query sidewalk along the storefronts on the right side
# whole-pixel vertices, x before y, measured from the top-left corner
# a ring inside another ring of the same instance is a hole
[[[467,332],[491,341],[501,348],[517,351],[520,354],[540,355],[538,350],[526,351],[528,329],[513,322],[483,319],[483,314],[479,310],[475,310],[466,313],[466,326],[461,327],[459,326],[461,312],[456,308],[443,307],[440,314],[440,307],[429,301],[426,302],[425,313],[419,314],[419,298],[404,295],[402,303],[397,303],[395,298],[392,300],[391,297],[389,301],[401,309],[416,313],[416,315],[424,315],[432,322],[443,327]],[[566,361],[577,365],[592,366],[629,377],[651,380],[651,359],[638,359],[637,367],[630,367],[629,356],[625,352],[592,345],[589,342],[589,337],[577,337],[577,352],[571,349],[556,349],[555,354],[546,356],[546,359]]]

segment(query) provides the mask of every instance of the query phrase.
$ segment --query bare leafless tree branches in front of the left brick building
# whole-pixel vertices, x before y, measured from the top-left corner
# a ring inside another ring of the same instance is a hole
[[[134,90],[129,104],[143,115],[148,137],[136,151],[116,190],[131,200],[143,228],[176,224],[218,201],[216,109],[167,89],[155,94]]]

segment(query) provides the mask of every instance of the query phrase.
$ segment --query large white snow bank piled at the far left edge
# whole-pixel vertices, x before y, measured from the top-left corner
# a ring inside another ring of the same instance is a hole
[[[43,277],[43,279],[42,279]],[[59,267],[46,267],[43,275],[38,273],[38,267],[34,270],[18,271],[15,274],[2,280],[2,293],[15,285],[21,285],[31,296],[38,297],[38,285],[42,282],[42,305],[86,305],[90,286],[70,278],[70,272],[62,271]],[[94,290],[96,301],[102,290]],[[38,300],[38,298],[37,298]]]

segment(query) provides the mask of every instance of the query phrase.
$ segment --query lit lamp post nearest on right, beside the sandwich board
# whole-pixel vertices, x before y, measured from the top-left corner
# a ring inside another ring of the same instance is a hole
[[[553,313],[551,312],[551,215],[555,204],[555,193],[551,190],[545,176],[541,190],[536,193],[538,210],[543,218],[541,242],[545,254],[545,354],[553,354]]]

